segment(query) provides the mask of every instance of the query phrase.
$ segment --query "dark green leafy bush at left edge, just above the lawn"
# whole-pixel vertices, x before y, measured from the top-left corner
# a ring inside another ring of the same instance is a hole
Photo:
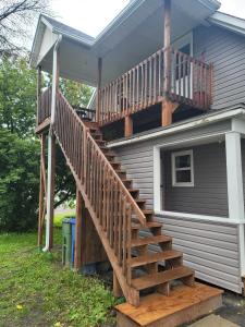
[[[36,227],[38,189],[38,142],[0,129],[0,230]]]

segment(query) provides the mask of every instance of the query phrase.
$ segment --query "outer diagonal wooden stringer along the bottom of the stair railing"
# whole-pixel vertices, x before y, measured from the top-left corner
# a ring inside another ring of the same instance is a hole
[[[63,153],[63,155],[64,155],[64,157],[66,159],[66,164],[68,164],[69,168],[71,169],[71,171],[73,173],[73,177],[75,179],[76,185],[77,185],[77,187],[78,187],[78,190],[79,190],[79,192],[81,192],[81,194],[82,194],[82,196],[84,198],[85,206],[86,206],[86,208],[88,209],[88,211],[90,214],[90,217],[93,219],[93,222],[95,225],[97,233],[98,233],[98,235],[99,235],[99,238],[101,240],[101,243],[102,243],[102,245],[105,247],[105,251],[106,251],[106,253],[108,255],[108,258],[109,258],[109,261],[111,263],[113,271],[117,275],[117,278],[118,278],[118,281],[119,281],[120,287],[122,289],[122,292],[123,292],[124,296],[126,298],[126,300],[127,300],[127,302],[130,304],[132,304],[134,306],[138,306],[139,305],[139,292],[135,288],[131,287],[127,283],[126,278],[123,275],[122,267],[118,264],[118,258],[114,255],[114,253],[113,253],[113,251],[112,251],[112,249],[111,249],[111,246],[109,244],[109,241],[107,239],[107,235],[106,235],[105,231],[102,230],[102,228],[100,227],[100,223],[98,222],[97,216],[96,216],[96,214],[95,214],[95,211],[94,211],[94,209],[93,209],[93,207],[90,205],[90,202],[89,202],[89,199],[88,199],[88,197],[86,195],[86,192],[84,191],[84,187],[83,187],[83,185],[82,185],[82,183],[81,183],[81,181],[79,181],[79,179],[78,179],[78,177],[77,177],[77,174],[76,174],[76,172],[75,172],[75,170],[74,170],[71,161],[69,160],[69,157],[66,156],[65,150],[64,150],[64,148],[62,146],[62,143],[59,140],[59,135],[56,133],[56,131],[54,131],[54,135],[56,135],[57,141],[58,141],[58,143],[59,143],[59,145],[61,147],[61,150],[62,150],[62,153]]]

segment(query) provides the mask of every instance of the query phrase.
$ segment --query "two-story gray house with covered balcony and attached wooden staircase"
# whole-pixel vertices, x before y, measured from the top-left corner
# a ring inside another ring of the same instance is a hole
[[[39,243],[46,191],[46,250],[52,245],[57,140],[82,203],[75,265],[84,206],[112,264],[114,292],[134,305],[150,287],[169,295],[172,280],[194,286],[194,270],[223,289],[244,288],[245,21],[219,8],[133,0],[96,38],[39,19],[30,63],[39,82],[41,71],[53,76],[52,88],[38,88],[42,159],[49,142]],[[76,112],[59,76],[96,87],[95,112]]]

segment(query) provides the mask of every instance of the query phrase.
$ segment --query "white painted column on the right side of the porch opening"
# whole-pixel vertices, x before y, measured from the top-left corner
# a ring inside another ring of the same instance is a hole
[[[241,276],[245,275],[245,241],[244,241],[244,191],[241,134],[229,132],[225,134],[226,177],[229,217],[241,221],[238,223],[240,266]]]

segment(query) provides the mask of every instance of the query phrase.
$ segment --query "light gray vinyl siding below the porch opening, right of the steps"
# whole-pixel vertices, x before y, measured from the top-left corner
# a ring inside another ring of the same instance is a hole
[[[173,247],[184,253],[184,264],[196,278],[241,293],[238,230],[236,225],[158,217]],[[157,249],[155,249],[157,250]]]

